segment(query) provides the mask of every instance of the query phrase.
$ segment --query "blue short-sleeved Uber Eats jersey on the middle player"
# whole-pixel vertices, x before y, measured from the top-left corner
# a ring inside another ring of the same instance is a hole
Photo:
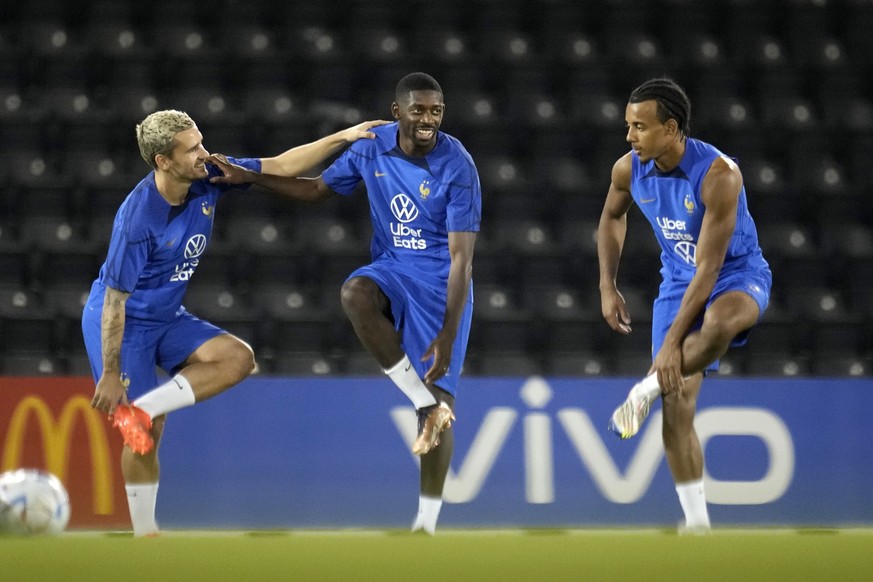
[[[391,260],[413,276],[449,277],[449,232],[478,232],[482,192],[473,159],[454,137],[414,158],[397,143],[398,124],[372,130],[324,171],[327,186],[351,195],[363,180],[370,201],[373,261]]]

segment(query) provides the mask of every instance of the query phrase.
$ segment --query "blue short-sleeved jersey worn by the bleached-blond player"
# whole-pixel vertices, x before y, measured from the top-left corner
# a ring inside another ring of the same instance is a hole
[[[259,159],[228,160],[261,170]],[[206,167],[209,176],[192,183],[179,206],[170,205],[160,195],[154,172],[128,194],[115,215],[106,262],[89,299],[92,306],[102,305],[106,287],[112,287],[130,293],[125,304],[127,319],[160,323],[176,315],[209,244],[215,204],[221,194],[239,188],[211,184],[209,178],[220,172],[212,165]]]

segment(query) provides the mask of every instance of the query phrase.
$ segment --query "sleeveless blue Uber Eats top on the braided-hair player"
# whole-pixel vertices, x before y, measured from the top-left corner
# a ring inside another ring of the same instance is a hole
[[[697,241],[706,210],[700,187],[719,156],[724,154],[710,144],[688,138],[679,165],[670,172],[661,172],[654,160],[641,164],[639,157],[631,153],[631,196],[652,224],[661,245],[661,275],[666,284],[687,284],[697,270]],[[719,278],[744,270],[767,269],[743,186],[737,224]]]

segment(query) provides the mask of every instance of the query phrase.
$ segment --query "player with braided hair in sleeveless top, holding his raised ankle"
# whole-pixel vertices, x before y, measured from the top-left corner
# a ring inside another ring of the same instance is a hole
[[[627,213],[638,205],[661,246],[663,281],[653,311],[651,368],[609,427],[623,439],[634,436],[661,399],[664,452],[685,513],[680,531],[707,533],[697,398],[718,358],[745,344],[761,320],[773,277],[736,160],[690,137],[690,121],[691,101],[672,79],[650,79],[631,92],[625,110],[631,151],[612,168],[597,254],[603,317],[616,332],[631,333],[616,277]]]

